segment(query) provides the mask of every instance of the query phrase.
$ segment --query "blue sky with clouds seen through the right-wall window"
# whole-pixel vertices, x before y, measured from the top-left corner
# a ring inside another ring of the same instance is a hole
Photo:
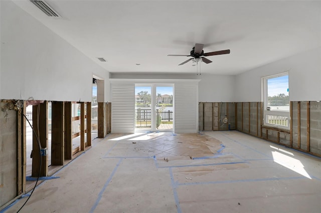
[[[288,95],[289,92],[287,91],[289,85],[289,76],[288,75],[282,75],[279,77],[273,77],[270,79],[267,79],[267,93],[268,96],[274,96],[280,93],[284,93],[285,95]]]

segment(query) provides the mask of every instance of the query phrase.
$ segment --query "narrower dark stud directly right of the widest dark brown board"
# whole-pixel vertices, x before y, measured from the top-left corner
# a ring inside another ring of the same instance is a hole
[[[64,158],[72,159],[72,103],[70,101],[65,102],[64,105],[64,124],[65,124],[65,132],[64,132]]]

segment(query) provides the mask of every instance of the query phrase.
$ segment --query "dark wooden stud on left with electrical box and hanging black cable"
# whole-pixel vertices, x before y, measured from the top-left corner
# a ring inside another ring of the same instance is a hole
[[[44,101],[33,106],[33,128],[35,129],[42,148],[48,148],[48,101]],[[48,176],[48,155],[39,156],[39,144],[37,137],[33,134],[32,148],[32,176],[39,174],[39,166],[41,160],[40,176]]]

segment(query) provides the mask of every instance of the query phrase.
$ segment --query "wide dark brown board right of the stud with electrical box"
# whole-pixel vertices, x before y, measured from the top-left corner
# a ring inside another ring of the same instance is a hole
[[[64,102],[52,101],[51,165],[63,165],[64,151]]]

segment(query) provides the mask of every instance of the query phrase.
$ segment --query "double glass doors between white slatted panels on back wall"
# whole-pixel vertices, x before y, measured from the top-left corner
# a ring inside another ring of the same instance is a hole
[[[173,131],[173,84],[135,85],[135,131]]]

